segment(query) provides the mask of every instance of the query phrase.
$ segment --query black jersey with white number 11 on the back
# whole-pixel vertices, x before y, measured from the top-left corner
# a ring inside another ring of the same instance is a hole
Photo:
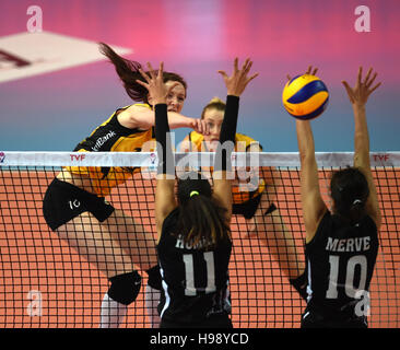
[[[232,242],[226,238],[212,249],[185,246],[175,236],[179,209],[164,220],[157,245],[163,293],[158,304],[162,320],[201,324],[215,315],[228,315],[228,262]],[[226,316],[227,318],[227,316]]]

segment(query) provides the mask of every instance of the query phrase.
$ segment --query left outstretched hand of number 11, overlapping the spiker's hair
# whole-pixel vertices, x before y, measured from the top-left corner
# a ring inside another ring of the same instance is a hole
[[[141,80],[137,80],[137,83],[148,89],[150,96],[153,98],[154,105],[160,103],[166,103],[166,97],[169,92],[179,83],[176,82],[169,88],[167,88],[164,83],[164,62],[160,63],[158,72],[156,72],[152,65],[148,62],[149,72],[145,73],[142,69],[139,69],[140,74],[146,82]]]

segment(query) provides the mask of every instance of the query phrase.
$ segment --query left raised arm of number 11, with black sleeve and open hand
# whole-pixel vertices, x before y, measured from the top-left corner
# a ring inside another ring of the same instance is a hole
[[[148,63],[149,75],[140,70],[146,83],[138,81],[149,90],[154,101],[154,124],[155,140],[157,142],[158,167],[155,189],[155,224],[161,236],[164,219],[177,207],[175,199],[175,161],[172,149],[169,126],[167,118],[166,96],[174,88],[167,88],[163,82],[163,62],[160,65],[158,72],[155,72]]]

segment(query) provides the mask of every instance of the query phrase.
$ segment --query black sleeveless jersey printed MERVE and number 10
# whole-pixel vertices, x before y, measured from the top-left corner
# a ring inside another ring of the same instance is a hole
[[[350,225],[328,211],[306,244],[306,311],[326,319],[362,316],[365,308],[356,306],[368,300],[378,246],[377,228],[369,215]]]

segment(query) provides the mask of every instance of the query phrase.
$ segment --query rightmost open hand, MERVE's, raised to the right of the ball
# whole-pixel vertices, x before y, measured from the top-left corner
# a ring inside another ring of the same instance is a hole
[[[362,75],[363,75],[363,67],[360,67],[358,69],[358,77],[357,77],[357,81],[355,83],[354,89],[349,86],[349,83],[346,81],[342,81],[342,84],[344,85],[348,95],[349,95],[349,100],[351,102],[352,105],[365,105],[368,101],[369,95],[380,86],[381,83],[377,83],[374,88],[372,88],[375,78],[377,77],[378,73],[374,73],[374,75],[372,77],[373,69],[369,68],[365,80],[362,80]]]

